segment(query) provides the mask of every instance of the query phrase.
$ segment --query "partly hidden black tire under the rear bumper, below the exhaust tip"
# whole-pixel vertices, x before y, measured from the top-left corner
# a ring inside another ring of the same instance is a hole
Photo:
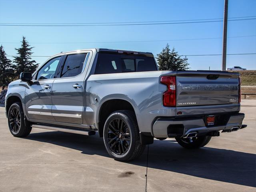
[[[200,148],[208,144],[211,140],[212,136],[198,136],[193,138],[178,138],[176,137],[176,141],[180,146],[187,148],[187,149],[195,149]]]

